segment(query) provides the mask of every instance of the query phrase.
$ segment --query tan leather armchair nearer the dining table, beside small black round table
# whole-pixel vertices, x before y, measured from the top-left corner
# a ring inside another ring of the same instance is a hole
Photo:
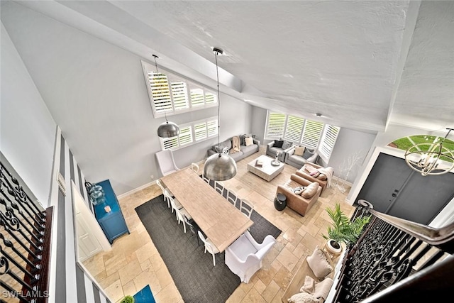
[[[295,194],[292,189],[301,186],[306,187],[311,183],[311,181],[306,180],[303,177],[292,174],[288,182],[286,182],[284,185],[277,186],[276,195],[284,194],[284,196],[287,197],[287,206],[294,211],[297,211],[297,213],[301,214],[301,216],[304,216],[306,215],[307,211],[309,211],[309,209],[311,209],[311,207],[316,204],[317,199],[319,199],[321,194],[321,187],[319,186],[314,196],[309,199],[306,199],[299,194]]]

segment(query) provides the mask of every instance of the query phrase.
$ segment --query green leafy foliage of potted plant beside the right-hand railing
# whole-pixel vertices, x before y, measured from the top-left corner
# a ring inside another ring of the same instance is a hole
[[[354,243],[360,237],[362,228],[370,221],[370,216],[357,217],[353,221],[341,210],[341,205],[336,204],[334,209],[326,208],[328,216],[333,221],[328,226],[328,235],[322,235],[323,238],[333,239],[338,243]]]

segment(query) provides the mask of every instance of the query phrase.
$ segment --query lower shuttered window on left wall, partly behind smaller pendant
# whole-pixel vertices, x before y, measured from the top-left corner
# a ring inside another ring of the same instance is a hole
[[[162,150],[178,150],[189,145],[218,136],[218,117],[179,126],[179,135],[173,138],[160,138]]]

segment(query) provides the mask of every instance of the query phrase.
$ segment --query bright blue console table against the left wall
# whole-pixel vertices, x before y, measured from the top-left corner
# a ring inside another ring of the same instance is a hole
[[[96,183],[96,185],[101,185],[104,189],[106,202],[94,206],[94,215],[106,234],[107,239],[112,244],[119,236],[129,233],[129,229],[128,226],[126,226],[125,218],[121,212],[120,204],[118,204],[118,199],[116,199],[114,189],[112,189],[111,182],[109,180],[104,180]],[[106,206],[110,206],[111,211],[106,212]]]

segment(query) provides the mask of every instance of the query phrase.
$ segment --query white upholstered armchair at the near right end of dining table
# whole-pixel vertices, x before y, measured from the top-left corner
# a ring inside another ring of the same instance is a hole
[[[226,265],[240,277],[241,282],[248,283],[250,277],[262,268],[262,260],[276,243],[276,239],[267,235],[263,242],[257,243],[249,231],[226,249]]]

